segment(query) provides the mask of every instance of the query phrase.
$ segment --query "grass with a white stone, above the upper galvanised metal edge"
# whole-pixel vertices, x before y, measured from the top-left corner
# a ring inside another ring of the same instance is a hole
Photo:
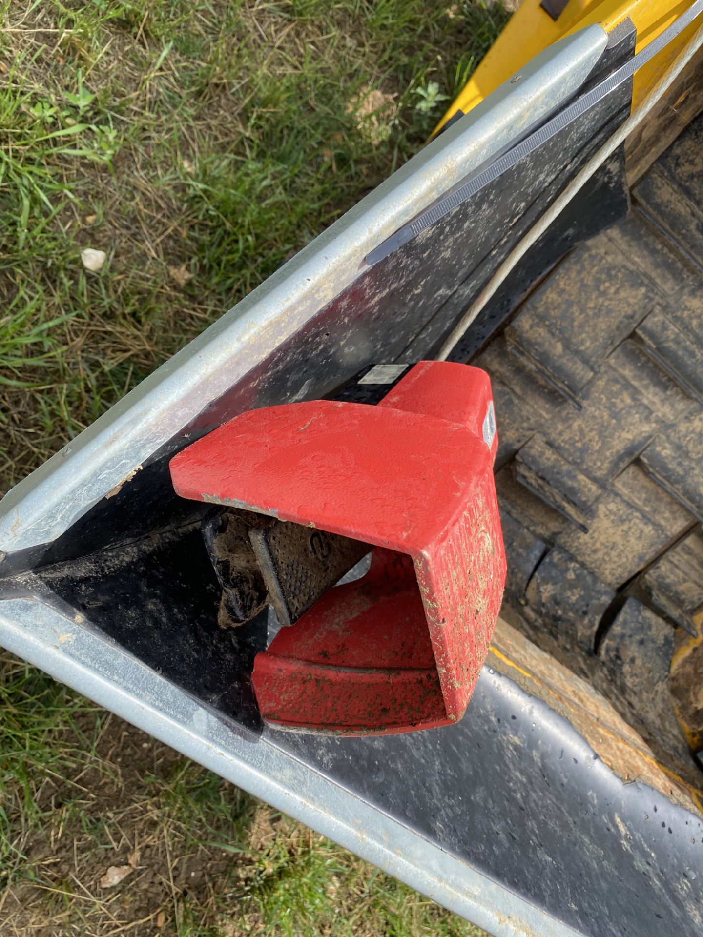
[[[409,158],[504,19],[6,0],[0,491]]]

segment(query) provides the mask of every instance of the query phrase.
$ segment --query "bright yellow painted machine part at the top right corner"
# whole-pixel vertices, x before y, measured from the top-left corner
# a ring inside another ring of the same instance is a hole
[[[629,17],[636,28],[635,51],[639,52],[681,16],[693,0],[682,0],[680,3],[672,0],[569,0],[556,21],[540,7],[540,3],[541,0],[524,0],[493,46],[486,52],[469,82],[441,118],[435,133],[458,109],[464,113],[471,111],[471,108],[503,82],[512,78],[516,71],[557,39],[576,33],[592,22],[599,22],[606,33],[609,33],[619,22]],[[637,106],[671,66],[699,25],[699,19],[696,19],[683,30],[681,36],[636,72],[633,111],[636,111]]]

